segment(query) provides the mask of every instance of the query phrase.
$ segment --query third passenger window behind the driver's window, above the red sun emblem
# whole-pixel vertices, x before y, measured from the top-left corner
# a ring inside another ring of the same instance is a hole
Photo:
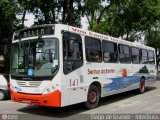
[[[129,46],[122,44],[119,45],[119,61],[121,63],[131,62]]]

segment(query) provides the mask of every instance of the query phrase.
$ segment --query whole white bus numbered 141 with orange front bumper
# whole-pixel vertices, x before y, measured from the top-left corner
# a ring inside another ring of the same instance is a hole
[[[12,41],[11,99],[63,107],[139,89],[156,80],[154,48],[55,24],[16,31]]]

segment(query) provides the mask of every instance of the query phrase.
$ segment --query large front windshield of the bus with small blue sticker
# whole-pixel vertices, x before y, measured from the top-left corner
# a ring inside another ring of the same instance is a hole
[[[48,76],[58,69],[58,40],[40,38],[12,46],[11,75]]]

